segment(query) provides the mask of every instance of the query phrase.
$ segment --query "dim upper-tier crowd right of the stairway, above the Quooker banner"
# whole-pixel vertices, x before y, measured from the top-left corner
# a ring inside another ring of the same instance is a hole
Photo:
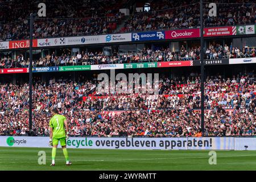
[[[230,26],[255,23],[253,1],[234,1],[230,6],[223,1],[215,1],[218,9],[216,17],[210,17],[204,9],[204,27]],[[200,26],[199,1],[152,1],[150,10],[138,12],[126,20],[123,32],[170,30]]]

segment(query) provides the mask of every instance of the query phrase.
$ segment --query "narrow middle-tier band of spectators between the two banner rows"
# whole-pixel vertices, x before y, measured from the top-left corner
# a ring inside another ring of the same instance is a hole
[[[232,59],[243,57],[255,57],[255,48],[251,47],[233,47],[210,44],[205,51],[205,59]],[[77,52],[76,56],[70,53],[63,53],[61,56],[55,55],[55,52],[33,61],[33,67],[51,67],[66,65],[94,65],[94,64],[119,64],[119,63],[147,63],[157,61],[184,61],[184,60],[200,60],[200,47],[191,47],[186,49],[180,47],[179,52],[170,51],[170,49],[159,49],[152,51],[150,48],[144,48],[137,53],[129,52],[123,55],[113,53],[107,56],[104,52]],[[19,55],[16,59],[10,56],[4,56],[0,60],[0,68],[27,68],[29,59],[24,59],[23,55]]]

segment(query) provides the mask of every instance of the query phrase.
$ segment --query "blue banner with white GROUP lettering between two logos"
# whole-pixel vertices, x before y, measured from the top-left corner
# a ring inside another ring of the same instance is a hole
[[[164,40],[164,31],[137,32],[131,36],[132,41]]]

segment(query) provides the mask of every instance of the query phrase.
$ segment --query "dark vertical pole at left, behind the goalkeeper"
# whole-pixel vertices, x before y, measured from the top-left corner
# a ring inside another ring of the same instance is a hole
[[[29,100],[29,135],[32,134],[32,48],[33,48],[33,14],[30,14],[30,100]]]

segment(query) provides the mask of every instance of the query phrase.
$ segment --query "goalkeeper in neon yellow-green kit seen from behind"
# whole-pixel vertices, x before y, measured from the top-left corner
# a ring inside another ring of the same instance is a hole
[[[49,121],[49,130],[50,130],[50,140],[49,146],[52,146],[52,164],[51,166],[55,166],[55,156],[57,146],[60,141],[60,145],[63,149],[63,154],[66,159],[66,165],[70,166],[71,162],[68,158],[68,151],[66,147],[66,140],[68,139],[68,122],[64,115],[60,115],[57,109],[52,110],[53,117]]]

